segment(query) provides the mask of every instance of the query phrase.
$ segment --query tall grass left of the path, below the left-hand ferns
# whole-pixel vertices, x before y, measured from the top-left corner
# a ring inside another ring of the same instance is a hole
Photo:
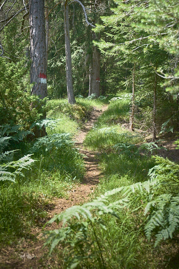
[[[32,143],[20,143],[21,155]],[[30,227],[43,224],[52,197],[68,198],[67,191],[83,178],[84,161],[72,146],[52,152],[37,150],[38,160],[16,183],[0,182],[0,242],[11,243],[27,236]],[[6,239],[6,240],[5,240]]]

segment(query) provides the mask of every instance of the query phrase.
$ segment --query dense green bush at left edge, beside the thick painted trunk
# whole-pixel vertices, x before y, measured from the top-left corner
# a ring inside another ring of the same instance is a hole
[[[30,86],[23,79],[24,62],[8,63],[1,57],[0,66],[0,125],[21,124],[28,129],[44,113],[46,100],[31,96]]]

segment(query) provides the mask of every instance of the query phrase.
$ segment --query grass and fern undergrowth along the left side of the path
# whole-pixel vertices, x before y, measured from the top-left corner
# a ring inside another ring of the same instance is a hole
[[[34,225],[43,225],[48,207],[53,207],[52,198],[68,199],[67,191],[84,176],[83,158],[72,141],[78,123],[67,114],[63,116],[56,117],[57,121],[46,120],[48,136],[33,141],[25,138],[33,132],[24,132],[23,126],[1,126],[1,244],[28,238]]]

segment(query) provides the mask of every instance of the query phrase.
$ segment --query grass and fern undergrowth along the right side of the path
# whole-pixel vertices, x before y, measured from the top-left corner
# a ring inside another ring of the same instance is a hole
[[[96,151],[103,174],[95,189],[96,198],[53,218],[50,223],[64,224],[61,230],[48,232],[47,244],[51,251],[56,249],[62,268],[171,269],[176,247],[172,247],[171,238],[176,239],[179,216],[175,214],[173,224],[170,214],[178,206],[178,198],[173,198],[178,188],[175,184],[172,191],[170,175],[178,178],[178,166],[152,158],[151,153],[157,154],[160,146],[143,143],[143,135],[124,128],[129,122],[129,99],[118,99],[99,117],[84,141],[87,148]],[[169,175],[172,165],[175,172],[171,170]]]

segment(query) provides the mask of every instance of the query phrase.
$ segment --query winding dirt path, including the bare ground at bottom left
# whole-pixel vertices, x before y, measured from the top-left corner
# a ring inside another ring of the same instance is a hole
[[[89,130],[92,128],[98,117],[107,109],[104,106],[101,110],[94,108],[91,112],[90,119],[84,124],[84,127],[75,137],[76,146],[80,152],[87,157],[84,157],[86,166],[86,175],[83,181],[68,192],[69,199],[54,198],[53,208],[49,207],[48,219],[55,214],[59,214],[68,207],[75,204],[81,204],[89,199],[90,194],[94,192],[96,185],[99,182],[100,171],[98,170],[98,160],[92,152],[84,149],[83,141]],[[47,220],[48,220],[47,219]],[[47,221],[46,220],[46,221]],[[48,229],[58,228],[56,223],[52,224]],[[55,257],[47,257],[47,249],[42,249],[44,239],[41,238],[41,228],[36,227],[31,231],[32,239],[24,240],[15,247],[8,247],[0,250],[0,269],[37,269],[37,268],[60,268],[60,264],[55,260]]]

